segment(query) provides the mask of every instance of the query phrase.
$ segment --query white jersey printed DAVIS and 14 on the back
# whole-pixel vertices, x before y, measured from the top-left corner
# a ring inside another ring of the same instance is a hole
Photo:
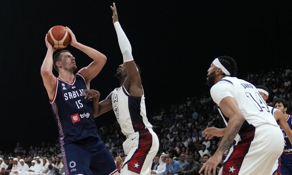
[[[211,88],[213,101],[218,105],[219,113],[227,126],[227,118],[220,109],[220,102],[225,97],[234,97],[245,121],[239,130],[239,135],[260,125],[277,125],[273,111],[267,106],[254,85],[236,77],[224,77]],[[237,137],[236,140],[239,138]]]

